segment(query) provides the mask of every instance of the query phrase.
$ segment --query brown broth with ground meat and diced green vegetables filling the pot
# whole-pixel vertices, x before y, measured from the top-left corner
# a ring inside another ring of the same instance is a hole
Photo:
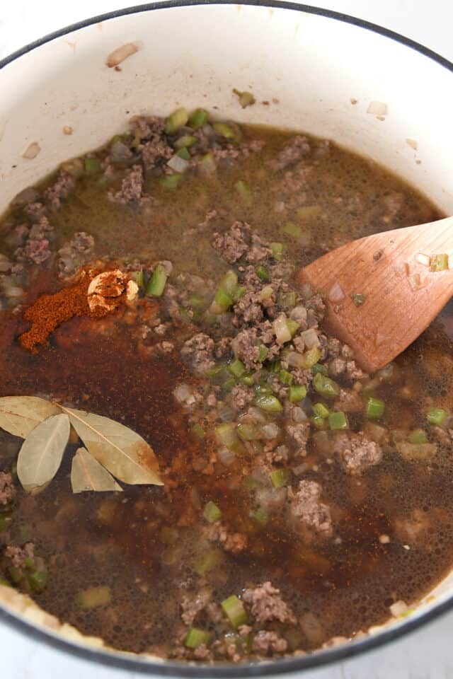
[[[61,199],[48,189],[62,175],[52,175],[4,216],[0,264],[16,268],[1,268],[0,395],[56,397],[127,424],[154,448],[164,487],[71,494],[70,444],[42,493],[25,494],[13,478],[16,497],[0,504],[0,575],[11,580],[7,546],[33,542],[47,569],[45,588],[33,593],[39,605],[127,651],[240,661],[355,637],[395,602],[410,609],[453,564],[452,310],[389,368],[364,376],[323,335],[319,298],[293,294],[291,273],[353,238],[442,214],[401,179],[324,140],[228,124],[231,139],[190,122],[167,124],[166,134],[164,121],[150,120],[88,154],[94,162],[64,166]],[[178,147],[188,165],[172,185],[166,163]],[[138,188],[127,191],[134,171]],[[30,243],[42,215],[50,228],[37,228],[35,240],[48,246]],[[67,246],[80,232],[93,240]],[[242,248],[236,260],[225,233]],[[143,269],[145,284],[156,262],[173,269],[161,297],[141,290],[138,308],[73,318],[38,353],[25,351],[23,309],[95,260]],[[239,276],[231,303],[212,313],[229,271]],[[263,323],[272,330],[282,313],[299,319],[286,348],[263,340]],[[288,365],[289,345],[293,354],[310,350],[297,340],[309,327],[315,365]],[[243,332],[253,339],[253,328],[267,356],[253,354],[256,341],[222,344]],[[212,345],[195,346],[200,333]],[[318,387],[326,376],[340,385],[335,399],[315,388],[316,375]],[[370,398],[384,402],[377,419],[367,417]],[[428,422],[433,408],[445,411],[440,426]],[[326,411],[343,413],[349,428],[330,426]],[[0,441],[0,470],[9,472],[21,441],[4,433]],[[417,441],[432,444],[418,459]],[[221,511],[217,521],[208,503]],[[6,513],[11,521],[1,523]],[[91,588],[105,598],[81,605]],[[247,627],[241,620],[235,629],[222,610],[230,596],[242,601]],[[190,629],[205,632],[201,643],[188,644]]]

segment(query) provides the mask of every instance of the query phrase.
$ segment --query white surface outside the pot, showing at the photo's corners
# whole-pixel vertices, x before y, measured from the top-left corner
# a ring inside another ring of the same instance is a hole
[[[0,59],[74,21],[132,6],[126,0],[0,0]],[[391,28],[453,62],[453,0],[324,0],[307,4]],[[1,93],[0,93],[1,106]],[[453,112],[452,112],[453,115]],[[453,679],[453,613],[408,637],[304,679]],[[1,679],[138,679],[49,649],[0,625]]]

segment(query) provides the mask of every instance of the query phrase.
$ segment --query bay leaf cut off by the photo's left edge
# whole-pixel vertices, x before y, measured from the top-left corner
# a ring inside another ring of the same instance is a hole
[[[0,398],[0,427],[26,439],[35,426],[59,412],[56,405],[38,396],[4,396]]]

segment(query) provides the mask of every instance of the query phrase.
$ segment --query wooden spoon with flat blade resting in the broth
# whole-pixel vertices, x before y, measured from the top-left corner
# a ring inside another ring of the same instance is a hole
[[[445,255],[449,268],[432,270]],[[382,368],[453,295],[453,217],[353,240],[296,280],[325,294],[326,330],[350,345],[360,366]]]

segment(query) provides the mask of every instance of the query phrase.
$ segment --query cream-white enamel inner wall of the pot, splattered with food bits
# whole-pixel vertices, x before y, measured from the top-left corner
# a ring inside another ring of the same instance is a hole
[[[62,161],[125,129],[131,115],[202,105],[222,117],[330,137],[406,178],[452,214],[452,64],[364,22],[270,4],[143,6],[71,27],[6,59],[0,211]],[[106,57],[127,42],[137,52],[120,70],[109,69]],[[242,110],[232,88],[252,91],[258,103]],[[32,143],[40,152],[24,158]],[[3,624],[96,661],[155,674],[243,676],[300,672],[386,642],[449,608],[452,588],[453,577],[447,578],[407,620],[389,621],[357,642],[259,668],[162,664],[96,647],[72,629],[50,629],[23,602],[4,602],[0,613]]]

